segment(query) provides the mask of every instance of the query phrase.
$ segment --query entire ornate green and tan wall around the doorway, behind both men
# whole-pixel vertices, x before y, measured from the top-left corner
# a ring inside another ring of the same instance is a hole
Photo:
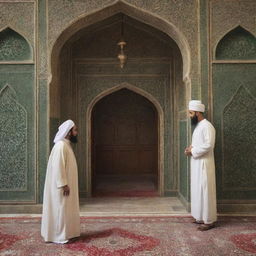
[[[87,112],[121,85],[163,110],[163,196],[189,209],[186,107],[198,98],[217,132],[218,210],[255,207],[255,13],[252,0],[0,1],[1,203],[42,202],[52,138],[69,117],[80,129],[79,185],[89,196]],[[123,17],[120,69],[114,42]]]

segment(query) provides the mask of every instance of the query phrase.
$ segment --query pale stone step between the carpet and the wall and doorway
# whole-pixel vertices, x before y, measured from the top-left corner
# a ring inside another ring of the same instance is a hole
[[[41,216],[41,211],[42,205],[2,205],[0,217]],[[80,200],[80,215],[186,216],[189,212],[177,197],[92,197]]]

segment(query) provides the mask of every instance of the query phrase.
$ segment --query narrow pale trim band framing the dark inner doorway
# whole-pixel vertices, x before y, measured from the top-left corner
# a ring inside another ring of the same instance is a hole
[[[112,88],[109,88],[101,93],[99,93],[88,105],[86,111],[86,170],[87,170],[87,188],[88,191],[91,191],[91,180],[92,180],[92,131],[91,131],[91,123],[92,123],[92,110],[94,106],[104,97],[120,91],[121,89],[128,89],[138,95],[145,97],[149,100],[152,105],[155,107],[158,115],[158,193],[163,195],[163,182],[164,182],[164,112],[159,104],[159,102],[148,92],[133,86],[129,83],[121,83],[120,85],[116,85]]]

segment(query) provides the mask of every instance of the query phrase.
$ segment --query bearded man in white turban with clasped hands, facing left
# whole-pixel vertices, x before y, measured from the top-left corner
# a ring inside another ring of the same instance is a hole
[[[191,215],[199,230],[214,227],[217,220],[214,145],[215,129],[204,118],[204,104],[199,100],[189,102],[189,116],[196,125],[191,146],[185,154],[191,156]]]

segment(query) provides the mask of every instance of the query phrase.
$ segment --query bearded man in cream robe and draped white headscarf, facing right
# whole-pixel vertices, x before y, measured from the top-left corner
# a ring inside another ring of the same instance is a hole
[[[77,163],[71,147],[77,133],[74,122],[67,120],[54,139],[44,186],[41,235],[45,242],[64,244],[80,236]]]

